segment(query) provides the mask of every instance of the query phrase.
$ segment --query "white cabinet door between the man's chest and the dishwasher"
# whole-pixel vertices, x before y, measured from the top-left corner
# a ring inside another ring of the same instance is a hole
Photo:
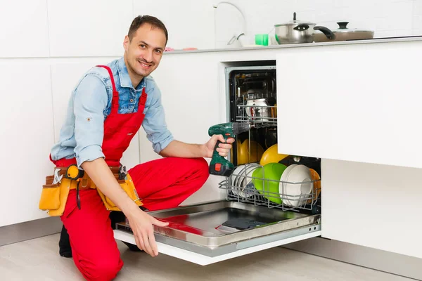
[[[215,55],[202,53],[165,54],[151,75],[161,91],[168,129],[175,139],[185,143],[206,143],[210,126],[225,122],[225,92],[219,91],[219,65]],[[223,113],[223,114],[222,114]],[[146,138],[139,133],[141,162],[160,158]],[[210,159],[207,159],[208,161]],[[218,183],[223,178],[210,176],[205,185],[182,204],[222,199]]]

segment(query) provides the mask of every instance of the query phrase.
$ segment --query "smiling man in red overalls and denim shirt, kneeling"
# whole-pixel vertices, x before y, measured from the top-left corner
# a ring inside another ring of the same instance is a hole
[[[69,171],[76,165],[89,177],[91,187],[96,187],[79,188],[84,184],[69,180],[78,188],[70,188],[63,213],[57,213],[63,221],[62,238],[67,230],[70,239],[70,245],[60,240],[60,254],[71,246],[75,265],[87,280],[111,280],[123,266],[110,211],[100,192],[122,211],[118,214],[127,217],[137,247],[151,256],[158,254],[153,225],[167,223],[143,211],[110,168],[120,166],[122,153],[141,125],[162,159],[135,166],[126,178],[133,181],[142,208],[150,211],[179,206],[207,180],[204,157],[212,157],[217,140],[223,142],[217,149],[222,156],[234,142],[224,143],[222,136],[212,136],[197,145],[172,137],[165,124],[160,90],[149,76],[160,64],[167,40],[167,29],[160,20],[136,17],[124,38],[124,56],[106,66],[92,67],[75,87],[60,141],[51,150],[56,167]]]

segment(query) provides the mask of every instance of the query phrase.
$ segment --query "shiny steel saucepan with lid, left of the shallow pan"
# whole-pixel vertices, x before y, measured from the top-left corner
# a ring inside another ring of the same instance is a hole
[[[296,20],[296,13],[293,13],[293,20],[276,27],[276,40],[279,44],[291,43],[312,43],[314,41],[314,31],[323,32],[327,39],[334,39],[335,35],[327,27],[315,26],[313,22],[302,22]]]

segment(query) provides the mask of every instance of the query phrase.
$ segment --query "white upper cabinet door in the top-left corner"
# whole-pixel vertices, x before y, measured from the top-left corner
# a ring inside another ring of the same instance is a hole
[[[0,58],[49,56],[46,0],[0,1]]]

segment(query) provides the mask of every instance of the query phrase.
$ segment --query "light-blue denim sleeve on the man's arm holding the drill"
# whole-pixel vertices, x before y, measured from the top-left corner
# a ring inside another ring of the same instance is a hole
[[[158,86],[154,85],[153,89],[148,91],[148,96],[151,96],[151,105],[146,111],[142,126],[146,131],[146,137],[153,144],[153,150],[159,154],[174,138],[167,129],[164,107],[161,103],[161,92]]]

